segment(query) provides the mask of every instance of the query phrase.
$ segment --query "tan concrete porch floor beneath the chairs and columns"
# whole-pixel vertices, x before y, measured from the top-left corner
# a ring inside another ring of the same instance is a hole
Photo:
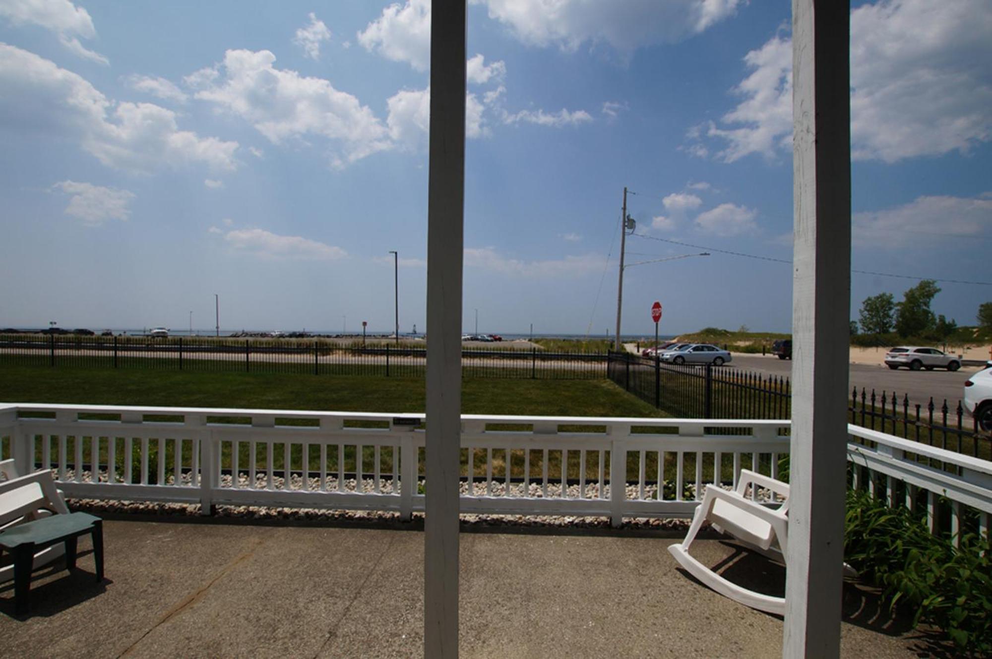
[[[671,537],[602,532],[461,534],[464,657],[776,657],[782,620],[705,589]],[[184,521],[104,522],[107,580],[89,541],[73,575],[35,573],[31,612],[0,584],[0,654],[45,657],[417,657],[419,530]],[[784,591],[784,571],[730,543],[693,554],[731,579]],[[844,657],[910,657],[917,632],[882,630],[845,587]],[[930,648],[932,650],[932,648]]]

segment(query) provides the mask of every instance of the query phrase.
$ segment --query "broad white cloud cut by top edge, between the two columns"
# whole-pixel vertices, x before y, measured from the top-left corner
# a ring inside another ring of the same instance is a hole
[[[478,0],[483,1],[483,0]],[[740,0],[484,0],[489,17],[525,44],[573,52],[585,42],[629,54],[671,44],[732,16]]]

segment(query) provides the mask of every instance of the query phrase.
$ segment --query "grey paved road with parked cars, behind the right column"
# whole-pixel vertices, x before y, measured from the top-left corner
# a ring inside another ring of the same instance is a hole
[[[735,354],[732,365],[773,375],[791,375],[793,362],[772,355]],[[904,368],[891,370],[881,365],[851,364],[848,389],[864,387],[869,393],[874,389],[879,394],[883,391],[888,392],[890,396],[895,391],[900,400],[904,394],[909,394],[911,403],[922,405],[926,405],[932,396],[933,402],[937,405],[946,399],[947,405],[953,408],[964,396],[964,381],[977,370],[977,368],[962,367],[961,370],[951,373],[945,370],[911,371]]]

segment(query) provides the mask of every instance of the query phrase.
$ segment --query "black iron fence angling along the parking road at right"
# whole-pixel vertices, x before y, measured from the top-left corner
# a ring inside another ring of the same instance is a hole
[[[789,419],[788,377],[729,366],[678,366],[624,352],[610,352],[607,377],[675,417],[689,419]],[[982,433],[960,401],[910,402],[908,395],[854,387],[850,423],[955,453],[992,460],[992,436]]]

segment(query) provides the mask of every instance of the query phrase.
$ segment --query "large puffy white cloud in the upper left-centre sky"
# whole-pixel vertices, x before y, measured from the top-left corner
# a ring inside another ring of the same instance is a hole
[[[386,126],[355,96],[275,62],[269,51],[227,51],[212,81],[194,74],[201,85],[196,98],[242,117],[274,144],[324,137],[338,169],[392,147]]]

